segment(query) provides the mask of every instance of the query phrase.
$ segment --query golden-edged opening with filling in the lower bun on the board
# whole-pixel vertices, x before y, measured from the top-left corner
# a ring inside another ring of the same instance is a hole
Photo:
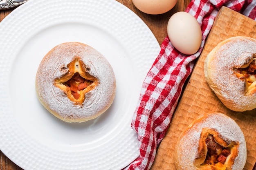
[[[231,170],[238,156],[238,142],[225,141],[213,129],[204,128],[199,140],[195,166],[209,170]]]

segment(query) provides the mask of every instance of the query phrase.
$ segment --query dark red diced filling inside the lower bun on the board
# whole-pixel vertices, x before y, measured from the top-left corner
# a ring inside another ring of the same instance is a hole
[[[220,146],[214,138],[213,135],[208,135],[205,139],[207,145],[207,155],[203,164],[207,165],[219,165],[220,163],[224,165],[227,156],[230,155],[230,148],[225,148]]]

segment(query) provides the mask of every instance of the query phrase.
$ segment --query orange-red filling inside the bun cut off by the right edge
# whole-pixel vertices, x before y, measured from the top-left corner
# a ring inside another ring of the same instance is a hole
[[[237,77],[242,80],[246,80],[247,84],[250,86],[253,82],[256,82],[256,58],[252,60],[249,66],[245,68],[235,68],[234,71],[237,74]]]

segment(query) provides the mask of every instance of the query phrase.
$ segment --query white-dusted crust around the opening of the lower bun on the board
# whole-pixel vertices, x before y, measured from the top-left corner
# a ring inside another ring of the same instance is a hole
[[[243,170],[246,163],[247,150],[245,137],[236,122],[222,113],[207,113],[201,115],[182,132],[175,146],[175,158],[181,170],[197,170],[194,161],[198,158],[199,139],[203,128],[210,128],[220,133],[221,138],[230,143],[239,144],[238,157],[232,170]],[[179,150],[179,153],[177,152]]]

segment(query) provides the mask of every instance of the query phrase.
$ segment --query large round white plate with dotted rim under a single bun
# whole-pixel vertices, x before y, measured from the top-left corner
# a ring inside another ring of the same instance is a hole
[[[38,102],[44,55],[83,42],[112,65],[117,92],[97,119],[65,123]],[[139,156],[130,123],[160,51],[153,33],[115,0],[29,0],[0,23],[0,150],[25,170],[120,170]]]

